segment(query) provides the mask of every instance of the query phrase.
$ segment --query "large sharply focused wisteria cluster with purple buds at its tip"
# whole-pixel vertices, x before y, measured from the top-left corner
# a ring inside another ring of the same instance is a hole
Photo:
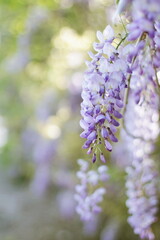
[[[87,62],[80,121],[84,129],[81,137],[87,139],[83,148],[89,148],[88,154],[93,153],[93,162],[100,150],[98,145],[103,143],[108,151],[112,151],[110,141],[118,141],[115,132],[119,126],[117,119],[122,118],[120,109],[128,70],[126,61],[119,57],[120,51],[115,47],[113,29],[107,26],[103,33],[98,31],[97,38],[99,43],[93,44],[97,54],[90,52],[92,60]],[[104,161],[101,151],[100,158]]]

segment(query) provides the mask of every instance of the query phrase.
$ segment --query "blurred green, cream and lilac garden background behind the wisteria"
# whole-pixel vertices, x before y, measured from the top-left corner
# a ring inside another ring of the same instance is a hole
[[[81,83],[111,0],[0,0],[0,240],[138,239],[127,224],[125,175],[109,161],[104,212],[75,213]],[[99,164],[99,163],[96,163]]]

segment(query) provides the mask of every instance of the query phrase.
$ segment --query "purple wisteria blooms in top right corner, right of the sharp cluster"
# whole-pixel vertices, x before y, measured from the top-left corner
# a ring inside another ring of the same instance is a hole
[[[125,1],[122,0],[119,4],[122,4],[121,2]],[[127,41],[133,42],[137,52],[132,54],[131,51],[127,60],[131,70],[132,87],[135,90],[135,101],[138,103],[140,98],[143,98],[143,91],[148,84],[152,82],[154,87],[159,87],[157,71],[160,68],[160,2],[131,1],[128,15],[131,21],[127,25]],[[135,40],[138,41],[137,45],[134,43]],[[152,93],[150,98],[151,95]]]

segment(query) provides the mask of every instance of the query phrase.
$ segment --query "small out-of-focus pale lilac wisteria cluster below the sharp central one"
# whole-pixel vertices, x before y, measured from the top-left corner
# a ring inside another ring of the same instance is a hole
[[[76,186],[75,200],[78,205],[77,213],[83,221],[90,221],[95,218],[95,214],[101,212],[101,207],[98,204],[103,200],[103,195],[106,193],[105,188],[96,188],[100,182],[104,182],[109,178],[106,166],[100,166],[97,171],[88,171],[89,164],[82,160],[78,160],[80,171],[77,172],[77,177],[80,179],[80,184]],[[94,188],[89,194],[89,186]]]

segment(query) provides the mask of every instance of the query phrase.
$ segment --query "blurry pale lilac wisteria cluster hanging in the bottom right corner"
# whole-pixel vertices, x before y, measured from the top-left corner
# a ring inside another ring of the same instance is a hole
[[[126,205],[131,215],[128,222],[135,234],[139,234],[142,239],[153,240],[151,225],[156,221],[158,202],[154,162],[145,155],[142,158],[134,158],[132,166],[126,168],[126,172]]]

